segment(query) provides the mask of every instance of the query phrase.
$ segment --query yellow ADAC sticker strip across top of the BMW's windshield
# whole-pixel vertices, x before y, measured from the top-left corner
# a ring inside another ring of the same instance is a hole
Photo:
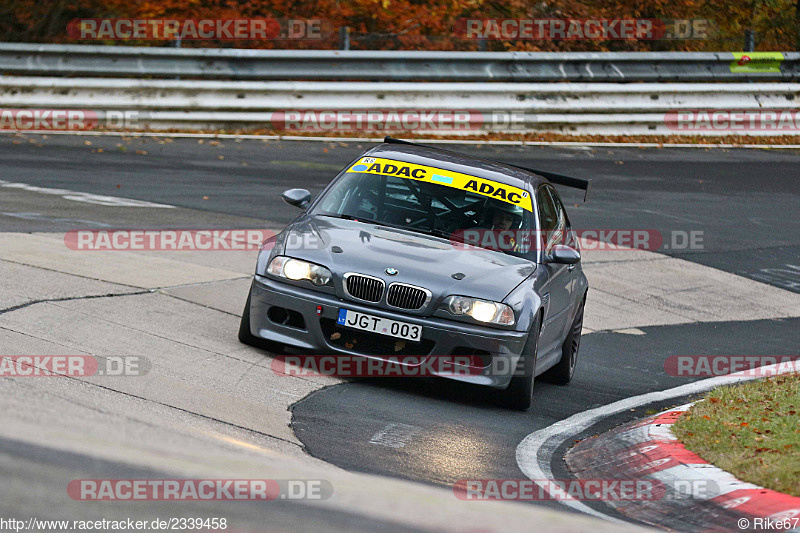
[[[531,198],[527,191],[513,185],[506,185],[505,183],[478,178],[469,174],[461,174],[460,172],[451,172],[440,168],[379,157],[362,157],[347,171],[427,181],[436,185],[482,194],[502,202],[518,205],[526,211],[533,211]]]

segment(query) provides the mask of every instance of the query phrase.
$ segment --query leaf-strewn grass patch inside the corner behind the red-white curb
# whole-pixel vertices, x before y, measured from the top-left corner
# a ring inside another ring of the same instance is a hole
[[[686,447],[737,478],[800,496],[800,374],[720,387],[673,426]]]

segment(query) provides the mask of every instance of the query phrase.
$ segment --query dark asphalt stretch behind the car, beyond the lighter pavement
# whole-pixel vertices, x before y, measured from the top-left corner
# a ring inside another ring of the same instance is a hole
[[[19,144],[12,144],[15,142]],[[84,144],[87,142],[91,144]],[[355,142],[198,142],[4,136],[0,138],[2,179],[234,217],[221,218],[223,226],[238,218],[246,227],[263,224],[277,228],[295,215],[294,208],[280,201],[282,191],[302,187],[312,194],[319,192],[369,146]],[[97,149],[103,152],[97,153]],[[562,190],[578,228],[654,229],[665,234],[702,231],[701,253],[662,251],[800,292],[800,220],[788,216],[797,209],[796,151],[487,146],[469,146],[465,151],[593,179],[589,203],[582,203],[579,191]],[[44,207],[38,207],[42,210]],[[57,214],[47,216],[51,219],[16,217],[15,221],[11,217],[3,220],[3,229],[62,231],[72,227],[69,220],[60,221],[59,226],[59,221],[53,220]],[[181,223],[191,227],[209,220],[214,219],[194,215]],[[110,221],[115,227],[128,227],[125,224],[130,222],[141,228],[161,227],[158,217]],[[80,225],[80,220],[74,224]]]

